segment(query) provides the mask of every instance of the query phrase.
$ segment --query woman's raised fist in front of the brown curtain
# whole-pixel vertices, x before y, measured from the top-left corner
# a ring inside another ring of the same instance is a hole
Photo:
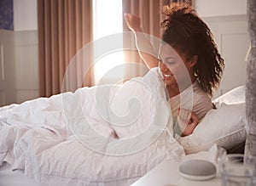
[[[128,25],[129,29],[131,29],[131,31],[143,31],[141,27],[141,18],[138,17],[136,14],[125,13],[125,22]]]

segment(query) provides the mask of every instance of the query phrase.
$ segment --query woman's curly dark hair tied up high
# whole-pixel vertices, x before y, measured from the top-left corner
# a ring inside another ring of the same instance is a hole
[[[201,88],[212,96],[224,70],[224,59],[218,53],[212,32],[189,3],[171,3],[163,8],[166,20],[161,25],[166,29],[162,40],[177,48],[186,59],[197,55],[193,67]]]

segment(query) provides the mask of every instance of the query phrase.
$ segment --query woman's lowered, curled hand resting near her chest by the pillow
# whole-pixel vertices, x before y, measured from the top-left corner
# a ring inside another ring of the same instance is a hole
[[[177,116],[178,127],[183,132],[182,136],[191,134],[198,125],[199,120],[195,112],[190,110],[180,109]]]

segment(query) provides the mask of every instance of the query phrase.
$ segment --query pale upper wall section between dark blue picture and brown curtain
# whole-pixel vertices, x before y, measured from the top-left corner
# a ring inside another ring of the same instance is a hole
[[[38,30],[37,0],[14,0],[14,30]]]

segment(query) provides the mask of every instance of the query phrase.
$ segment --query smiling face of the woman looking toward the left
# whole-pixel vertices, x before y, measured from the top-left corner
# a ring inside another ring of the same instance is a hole
[[[191,81],[194,82],[193,66],[196,60],[193,61],[193,58],[187,60],[184,54],[168,44],[161,45],[159,67],[166,87],[172,87],[172,89],[178,86],[187,87],[188,84],[191,84]]]

